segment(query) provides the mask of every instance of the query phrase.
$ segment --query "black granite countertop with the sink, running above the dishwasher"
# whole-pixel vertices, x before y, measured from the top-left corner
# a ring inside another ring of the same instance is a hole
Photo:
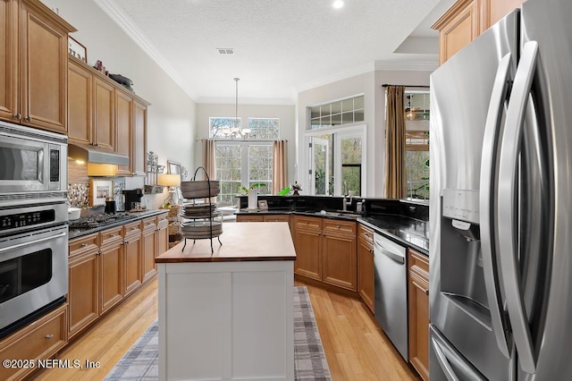
[[[291,210],[291,209],[240,209],[236,215],[302,215],[318,216],[357,221],[382,233],[401,245],[408,246],[422,254],[429,255],[429,223],[415,218],[398,215],[361,216],[358,213],[343,210]]]

